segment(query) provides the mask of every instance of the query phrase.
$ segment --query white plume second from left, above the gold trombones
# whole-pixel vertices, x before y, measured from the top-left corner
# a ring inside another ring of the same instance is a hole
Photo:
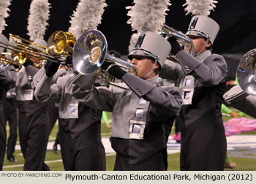
[[[45,36],[46,26],[50,16],[50,3],[48,0],[32,0],[29,9],[28,35],[31,41]]]

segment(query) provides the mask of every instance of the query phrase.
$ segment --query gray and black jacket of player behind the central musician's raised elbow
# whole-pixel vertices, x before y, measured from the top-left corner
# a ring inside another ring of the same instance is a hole
[[[102,115],[93,108],[84,107],[84,105],[82,107],[72,96],[74,87],[71,83],[72,77],[74,74],[70,70],[64,77],[59,77],[56,83],[53,83],[53,77],[46,76],[45,69],[42,68],[33,80],[34,96],[38,101],[59,101],[59,118],[64,119],[61,122],[66,122],[61,126],[64,126],[65,131],[71,134],[72,139],[75,139],[91,124],[99,123]]]

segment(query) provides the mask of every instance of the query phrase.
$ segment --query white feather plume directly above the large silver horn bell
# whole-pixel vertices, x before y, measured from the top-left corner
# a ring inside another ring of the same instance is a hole
[[[104,7],[107,7],[105,0],[80,0],[69,21],[69,32],[79,37],[86,30],[97,29],[102,20]]]

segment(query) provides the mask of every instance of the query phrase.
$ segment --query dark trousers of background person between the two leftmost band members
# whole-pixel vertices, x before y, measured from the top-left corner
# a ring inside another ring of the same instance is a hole
[[[5,99],[4,101],[4,119],[9,124],[10,134],[7,139],[7,158],[13,156],[15,145],[18,138],[18,111],[15,99]]]

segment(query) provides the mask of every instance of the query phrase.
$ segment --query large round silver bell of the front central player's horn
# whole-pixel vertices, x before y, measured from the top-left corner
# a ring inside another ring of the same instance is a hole
[[[105,61],[107,50],[106,38],[100,31],[86,31],[75,43],[72,60],[74,69],[81,74],[93,74]]]

